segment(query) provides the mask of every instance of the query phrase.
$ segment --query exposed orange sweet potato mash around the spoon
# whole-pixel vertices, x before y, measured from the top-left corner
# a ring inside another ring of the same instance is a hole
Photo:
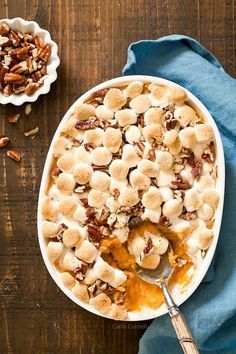
[[[176,283],[187,285],[191,280],[187,276],[188,269],[192,266],[191,259],[186,254],[186,246],[182,243],[181,238],[173,231],[154,224],[143,224],[139,227],[139,233],[148,230],[155,233],[160,230],[170,241],[174,254],[172,255],[186,259],[187,263],[183,267],[175,267],[174,273],[169,281],[169,285]],[[134,232],[131,230],[129,237],[133,237]],[[153,309],[159,308],[164,302],[160,288],[154,284],[148,284],[135,274],[135,259],[126,247],[117,239],[103,239],[100,244],[103,259],[115,268],[120,268],[128,276],[127,281],[123,285],[126,288],[125,306],[130,311],[140,311],[143,306]]]

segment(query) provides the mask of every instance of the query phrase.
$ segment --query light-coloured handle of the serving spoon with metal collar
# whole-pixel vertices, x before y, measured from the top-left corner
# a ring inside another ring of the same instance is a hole
[[[179,308],[174,303],[167,289],[166,283],[163,282],[160,286],[165,298],[166,305],[168,307],[168,312],[171,318],[172,325],[175,329],[183,352],[185,354],[199,354],[199,351],[190,332],[190,329],[186,323],[186,320],[180,312]]]

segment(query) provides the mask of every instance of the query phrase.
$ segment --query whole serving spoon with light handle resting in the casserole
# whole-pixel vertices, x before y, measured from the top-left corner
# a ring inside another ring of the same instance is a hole
[[[137,221],[138,220],[136,219],[135,224],[132,224],[133,227],[137,226],[139,223]],[[171,266],[168,258],[168,253],[171,250],[172,247],[169,243],[169,247],[166,253],[161,256],[160,264],[156,269],[145,269],[137,265],[135,271],[142,280],[150,284],[156,284],[161,288],[172,325],[175,329],[183,352],[186,354],[199,354],[186,320],[177,305],[174,303],[167,287],[168,281],[174,271],[174,268]]]

